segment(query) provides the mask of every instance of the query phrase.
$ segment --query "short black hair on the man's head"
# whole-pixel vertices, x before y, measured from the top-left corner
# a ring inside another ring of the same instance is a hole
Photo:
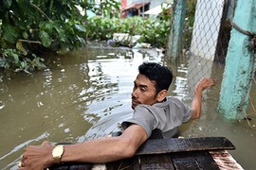
[[[168,91],[173,81],[172,69],[155,62],[143,62],[138,66],[138,72],[147,76],[151,81],[155,81],[156,94],[162,90]]]

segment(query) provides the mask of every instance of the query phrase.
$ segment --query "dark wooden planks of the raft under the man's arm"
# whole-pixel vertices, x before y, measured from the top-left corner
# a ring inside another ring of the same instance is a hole
[[[218,169],[208,150],[235,146],[225,137],[150,139],[130,159],[106,163],[107,169]],[[158,155],[161,154],[161,155]],[[90,169],[90,163],[65,162],[49,169]]]

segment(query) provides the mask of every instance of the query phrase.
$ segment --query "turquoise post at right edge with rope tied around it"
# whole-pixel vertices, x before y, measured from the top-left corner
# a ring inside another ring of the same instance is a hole
[[[252,36],[245,32],[256,32],[255,7],[255,0],[237,0],[231,21],[233,27],[218,106],[219,111],[228,119],[238,119],[239,114],[247,110],[251,74],[254,76],[255,67],[253,50],[248,48]]]

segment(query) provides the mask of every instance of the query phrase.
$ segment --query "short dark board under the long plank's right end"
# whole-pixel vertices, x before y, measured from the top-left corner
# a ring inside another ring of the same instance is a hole
[[[219,169],[208,151],[177,152],[170,156],[176,170]]]

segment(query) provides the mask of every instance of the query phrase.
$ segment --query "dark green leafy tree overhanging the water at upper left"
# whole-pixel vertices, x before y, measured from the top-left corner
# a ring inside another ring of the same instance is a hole
[[[40,54],[64,53],[85,42],[86,15],[78,6],[104,13],[117,8],[114,0],[96,8],[87,0],[1,0],[0,67],[29,72],[45,67]]]

